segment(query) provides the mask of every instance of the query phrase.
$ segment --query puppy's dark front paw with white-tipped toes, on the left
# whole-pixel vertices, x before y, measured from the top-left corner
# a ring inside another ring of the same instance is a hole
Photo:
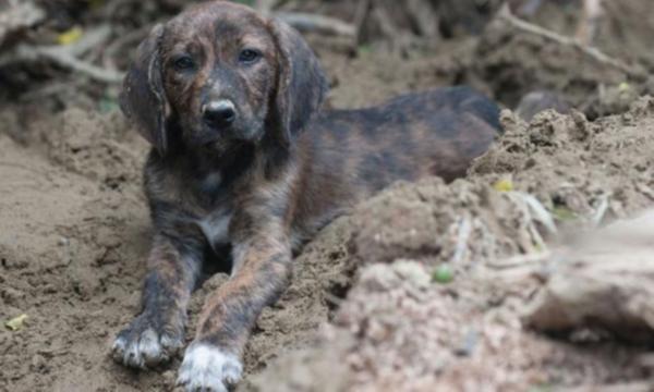
[[[130,367],[147,368],[170,359],[182,347],[183,328],[165,328],[142,314],[113,341],[114,360]]]

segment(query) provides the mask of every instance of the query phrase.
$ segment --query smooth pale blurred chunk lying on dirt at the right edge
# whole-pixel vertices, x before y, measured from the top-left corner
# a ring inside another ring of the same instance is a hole
[[[528,326],[569,332],[608,331],[627,342],[654,338],[654,309],[649,298],[654,270],[654,209],[590,232],[544,258],[555,273],[531,302]]]

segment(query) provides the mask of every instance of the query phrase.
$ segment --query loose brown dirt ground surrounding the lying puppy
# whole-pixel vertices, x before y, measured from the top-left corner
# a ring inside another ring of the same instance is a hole
[[[647,73],[650,0],[606,8],[598,46]],[[548,3],[533,21],[570,34],[578,14],[576,4]],[[552,89],[579,110],[529,124],[507,110],[505,134],[467,179],[397,184],[328,225],[259,318],[239,390],[651,391],[652,339],[626,342],[592,319],[532,328],[525,315],[547,274],[502,264],[654,206],[654,100],[638,98],[650,81],[500,21],[479,36],[416,38],[390,52],[307,38],[331,78],[331,107],[469,83],[507,108]],[[0,391],[172,390],[180,358],[136,372],[108,357],[138,309],[148,147],[116,108],[80,91],[44,98],[47,109],[2,95],[0,320],[28,319],[19,331],[0,329]],[[439,266],[451,281],[434,281]],[[190,331],[204,295],[225,279],[194,294]]]

